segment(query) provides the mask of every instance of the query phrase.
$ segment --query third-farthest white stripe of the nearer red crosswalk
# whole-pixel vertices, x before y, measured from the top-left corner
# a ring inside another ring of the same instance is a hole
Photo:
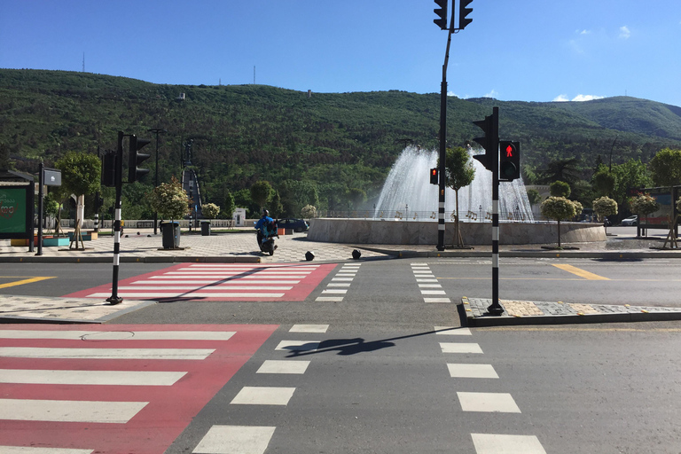
[[[187,372],[0,369],[0,383],[169,387]]]

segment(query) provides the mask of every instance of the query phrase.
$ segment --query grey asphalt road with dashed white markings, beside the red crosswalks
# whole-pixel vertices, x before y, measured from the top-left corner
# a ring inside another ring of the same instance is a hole
[[[467,331],[455,304],[489,297],[489,261],[348,265],[355,266],[338,264],[304,301],[164,302],[111,322],[278,325],[169,453],[192,452],[231,426],[267,428],[267,454],[506,452],[486,450],[487,443],[520,443],[524,454],[681,452],[678,323]],[[501,266],[503,299],[679,304],[675,261],[508,259]],[[125,264],[121,279],[165,267]],[[0,265],[0,275],[2,284],[53,277],[0,287],[1,294],[60,296],[110,282],[111,266],[15,263]],[[292,333],[297,324],[324,329]],[[307,365],[272,369],[292,364]],[[276,403],[249,400],[254,389],[267,389]]]

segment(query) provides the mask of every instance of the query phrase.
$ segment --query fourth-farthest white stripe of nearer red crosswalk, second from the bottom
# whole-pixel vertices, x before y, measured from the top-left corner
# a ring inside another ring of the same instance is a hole
[[[147,403],[0,399],[0,419],[125,424]]]

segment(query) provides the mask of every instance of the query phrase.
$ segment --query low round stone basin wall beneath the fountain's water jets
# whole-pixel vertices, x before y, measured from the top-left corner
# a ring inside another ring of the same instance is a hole
[[[492,223],[460,223],[466,245],[491,245]],[[309,224],[308,239],[328,243],[377,245],[436,245],[437,223],[393,219],[316,218]],[[560,241],[606,241],[601,223],[560,223]],[[556,223],[499,223],[499,244],[528,245],[558,242]],[[455,244],[454,223],[445,223],[445,244]]]

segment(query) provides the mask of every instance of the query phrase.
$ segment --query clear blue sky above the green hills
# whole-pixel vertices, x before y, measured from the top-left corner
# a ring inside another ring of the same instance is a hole
[[[450,0],[451,2],[451,0]],[[451,4],[451,3],[450,3]],[[459,98],[629,95],[681,106],[679,0],[474,0],[452,35]],[[147,82],[439,92],[432,0],[0,0],[0,67]],[[457,3],[458,12],[458,3]],[[255,71],[254,71],[255,67]]]

